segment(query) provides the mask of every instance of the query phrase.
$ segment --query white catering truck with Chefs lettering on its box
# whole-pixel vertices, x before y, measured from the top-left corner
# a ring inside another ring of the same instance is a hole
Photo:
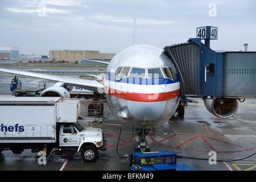
[[[84,128],[77,119],[80,100],[62,97],[0,97],[0,152],[21,154],[51,152],[59,155],[81,153],[93,162],[106,140],[101,129]]]

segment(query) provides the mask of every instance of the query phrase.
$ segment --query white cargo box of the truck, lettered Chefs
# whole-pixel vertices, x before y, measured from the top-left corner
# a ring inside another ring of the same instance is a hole
[[[0,97],[0,143],[54,143],[56,123],[76,123],[80,100]]]

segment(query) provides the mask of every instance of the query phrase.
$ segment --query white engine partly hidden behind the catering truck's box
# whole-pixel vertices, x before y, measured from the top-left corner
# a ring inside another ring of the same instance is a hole
[[[44,90],[40,97],[63,97],[70,98],[70,94],[67,89],[64,88],[63,82],[57,82],[52,87]]]

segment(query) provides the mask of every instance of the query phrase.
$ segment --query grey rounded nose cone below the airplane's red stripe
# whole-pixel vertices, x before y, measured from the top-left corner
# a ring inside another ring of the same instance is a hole
[[[166,107],[166,101],[161,102],[136,102],[127,101],[131,115],[139,120],[154,120],[161,117]]]

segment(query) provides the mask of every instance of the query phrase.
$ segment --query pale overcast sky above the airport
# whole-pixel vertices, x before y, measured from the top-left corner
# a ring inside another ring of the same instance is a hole
[[[256,51],[255,0],[0,0],[0,46],[19,53],[49,50],[117,53],[133,45],[134,7],[137,44],[165,46],[196,38],[196,27],[218,27],[214,50]]]

